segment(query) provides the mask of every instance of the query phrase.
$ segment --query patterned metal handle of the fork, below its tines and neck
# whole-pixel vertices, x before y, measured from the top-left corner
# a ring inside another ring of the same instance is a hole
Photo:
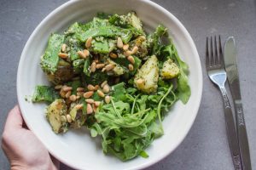
[[[224,117],[225,117],[225,124],[226,124],[229,144],[230,144],[232,160],[233,160],[235,169],[242,170],[239,144],[238,144],[238,139],[236,135],[236,125],[235,125],[234,117],[230,107],[230,100],[228,98],[226,89],[224,87],[219,87],[219,89],[221,91],[223,104],[224,104]]]

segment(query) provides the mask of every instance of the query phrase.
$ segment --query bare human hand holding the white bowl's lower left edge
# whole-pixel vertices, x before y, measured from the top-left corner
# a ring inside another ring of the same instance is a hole
[[[51,157],[44,145],[26,128],[17,105],[7,117],[3,130],[2,148],[12,170],[59,169],[60,162]]]

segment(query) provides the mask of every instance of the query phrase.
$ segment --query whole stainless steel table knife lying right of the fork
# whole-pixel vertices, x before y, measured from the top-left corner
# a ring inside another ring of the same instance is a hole
[[[244,170],[251,170],[251,159],[247,139],[247,128],[241,104],[240,82],[237,70],[236,43],[234,37],[229,37],[224,46],[224,66],[227,72],[230,91],[236,111],[236,131],[241,154],[241,164]]]

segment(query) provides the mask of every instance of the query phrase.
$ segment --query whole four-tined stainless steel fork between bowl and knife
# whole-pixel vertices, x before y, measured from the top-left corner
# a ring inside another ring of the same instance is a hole
[[[225,88],[225,82],[227,79],[226,71],[224,70],[224,58],[222,53],[222,46],[220,36],[218,36],[218,47],[216,36],[214,37],[214,50],[212,45],[212,37],[210,40],[210,49],[208,46],[207,37],[207,51],[206,51],[206,66],[207,74],[210,80],[216,84],[222,94],[224,104],[224,118],[226,124],[226,132],[230,144],[230,151],[232,161],[236,170],[242,169],[241,167],[241,156],[238,145],[238,139],[236,136],[236,126],[230,107],[230,100],[228,99],[227,91]]]

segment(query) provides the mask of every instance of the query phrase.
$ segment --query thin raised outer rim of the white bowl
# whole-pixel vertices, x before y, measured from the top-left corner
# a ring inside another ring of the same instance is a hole
[[[199,107],[201,105],[201,96],[202,96],[202,88],[203,88],[203,82],[202,82],[202,70],[201,70],[201,60],[200,60],[200,57],[199,57],[199,54],[197,52],[197,49],[195,47],[195,42],[193,41],[192,37],[190,36],[189,34],[189,31],[187,31],[187,29],[183,26],[183,24],[181,23],[181,21],[177,20],[177,18],[171,13],[169,12],[166,8],[163,8],[162,6],[160,6],[159,4],[157,3],[154,3],[150,0],[137,0],[137,1],[141,1],[142,3],[148,3],[148,5],[150,6],[153,6],[154,8],[157,8],[158,10],[164,12],[164,14],[166,14],[168,17],[170,17],[176,24],[177,26],[184,32],[185,34],[185,37],[188,38],[189,40],[189,44],[191,45],[191,50],[194,52],[195,54],[195,63],[197,64],[196,67],[198,67],[198,71],[199,71],[199,77],[198,77],[198,89],[199,91],[197,92],[198,94],[198,101],[195,102],[195,105],[194,105],[194,111],[196,112],[194,115],[193,115],[193,119],[191,119],[191,121],[189,122],[189,125],[186,130],[185,130],[185,133],[183,133],[183,136],[177,141],[176,144],[174,144],[174,146],[172,147],[171,150],[167,151],[166,153],[160,155],[158,158],[152,160],[152,161],[149,161],[147,163],[144,163],[144,164],[141,164],[141,165],[138,165],[136,168],[138,169],[142,169],[142,168],[145,168],[145,167],[149,167],[149,166],[152,166],[153,164],[155,164],[156,162],[160,161],[160,160],[163,160],[166,156],[170,155],[172,153],[173,150],[176,150],[177,149],[177,146],[179,144],[181,144],[183,142],[183,140],[185,139],[185,137],[188,135],[189,133],[189,130],[191,129],[192,125],[194,124],[195,122],[195,117],[197,116],[198,114],[198,111],[199,111]],[[26,54],[26,51],[28,50],[28,45],[31,44],[32,42],[32,38],[38,33],[38,30],[41,28],[41,26],[44,26],[44,23],[46,23],[51,17],[53,17],[55,14],[57,14],[62,8],[66,8],[67,6],[73,4],[73,3],[76,3],[76,2],[79,2],[79,0],[73,0],[73,1],[68,1],[67,3],[63,3],[61,4],[61,6],[55,8],[52,12],[50,12],[45,18],[44,20],[42,20],[39,25],[34,29],[34,31],[32,31],[32,34],[31,36],[28,38],[27,42],[26,42],[26,45],[25,47],[23,48],[22,50],[22,53],[20,55],[20,61],[19,61],[19,66],[18,66],[18,71],[17,71],[17,79],[16,79],[16,87],[17,87],[17,97],[18,97],[18,103],[19,105],[21,104],[21,99],[22,96],[20,94],[20,78],[22,77],[20,75],[21,73],[21,70],[22,70],[22,65],[24,65],[24,62],[25,62],[25,54]],[[26,120],[26,116],[23,116],[23,113],[22,111],[24,111],[24,108],[23,108],[23,105],[20,105],[20,112],[21,112],[21,115],[24,119],[25,122],[27,122]],[[32,127],[30,127],[29,124],[27,124],[27,127],[29,127],[29,129],[32,131],[32,133],[34,133],[34,130]],[[35,136],[37,136],[38,138],[38,134],[37,133],[34,133]],[[44,143],[42,143],[44,144]],[[45,146],[45,144],[44,144]],[[66,161],[65,159],[62,159],[61,156],[58,156],[58,155],[55,155],[55,151],[54,150],[50,150],[49,147],[45,146],[46,149],[49,151],[49,153],[52,155],[52,156],[55,156],[56,159],[58,159],[59,161],[61,161],[62,163],[66,164],[67,166],[69,167],[73,167],[73,168],[79,168],[79,167],[76,167],[76,165],[73,165],[71,162],[68,162]],[[130,168],[129,168],[130,169]]]

